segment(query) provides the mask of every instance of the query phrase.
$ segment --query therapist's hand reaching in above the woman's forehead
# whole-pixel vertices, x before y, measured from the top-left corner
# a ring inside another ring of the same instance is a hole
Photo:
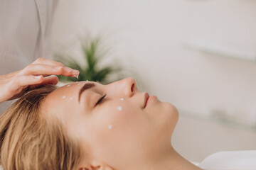
[[[78,70],[65,67],[61,62],[38,58],[24,69],[0,75],[0,103],[21,97],[40,86],[57,84],[58,77],[48,77],[50,75],[78,77],[78,74]]]

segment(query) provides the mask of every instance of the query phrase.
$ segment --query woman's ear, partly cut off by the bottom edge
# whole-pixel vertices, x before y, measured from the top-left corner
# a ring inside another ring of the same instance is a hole
[[[111,166],[102,162],[93,161],[91,164],[80,164],[79,170],[114,170]]]

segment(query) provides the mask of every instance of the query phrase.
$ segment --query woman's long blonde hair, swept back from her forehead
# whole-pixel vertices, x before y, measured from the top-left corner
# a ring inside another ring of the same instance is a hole
[[[78,169],[80,147],[58,120],[41,114],[56,86],[29,91],[0,116],[0,164],[5,170]]]

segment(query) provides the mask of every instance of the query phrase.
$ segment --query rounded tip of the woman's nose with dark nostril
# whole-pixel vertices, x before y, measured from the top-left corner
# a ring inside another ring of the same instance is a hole
[[[123,91],[125,96],[131,97],[137,91],[136,81],[132,78],[122,79],[121,83],[123,84],[121,90]]]

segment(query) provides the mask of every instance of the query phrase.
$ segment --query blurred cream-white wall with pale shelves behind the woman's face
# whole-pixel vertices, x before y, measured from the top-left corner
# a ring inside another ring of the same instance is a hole
[[[109,49],[100,67],[122,68],[109,81],[133,77],[178,108],[171,142],[186,159],[256,149],[255,0],[60,1],[55,54],[86,64],[81,38]]]

